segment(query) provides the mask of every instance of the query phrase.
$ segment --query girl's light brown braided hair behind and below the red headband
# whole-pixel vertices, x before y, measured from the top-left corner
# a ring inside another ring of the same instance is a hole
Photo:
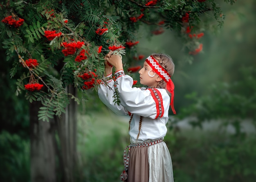
[[[173,76],[175,65],[173,59],[169,55],[153,53],[152,56],[158,61],[158,63],[169,73],[170,76]],[[165,88],[166,82],[161,80],[157,84],[157,88]]]

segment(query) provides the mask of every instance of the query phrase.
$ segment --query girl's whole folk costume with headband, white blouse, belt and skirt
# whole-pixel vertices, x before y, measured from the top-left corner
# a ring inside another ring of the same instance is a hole
[[[157,69],[152,63],[150,66]],[[160,74],[154,69],[154,72]],[[124,150],[124,171],[121,180],[173,182],[171,155],[163,141],[167,132],[168,110],[171,101],[173,105],[173,100],[170,101],[170,96],[164,88],[132,87],[133,79],[125,75],[124,70],[115,72],[115,80],[111,77],[112,74],[103,77],[104,83],[100,84],[98,90],[99,98],[116,114],[131,116],[130,145]],[[169,87],[174,89],[174,86]],[[119,105],[114,102],[115,92],[119,96]]]

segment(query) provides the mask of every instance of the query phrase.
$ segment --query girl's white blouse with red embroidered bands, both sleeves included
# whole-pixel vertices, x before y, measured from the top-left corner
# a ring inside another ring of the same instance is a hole
[[[112,77],[112,74],[106,77]],[[106,79],[103,77],[103,79]],[[115,84],[115,86],[114,86]],[[123,70],[115,72],[115,81],[108,80],[107,86],[100,84],[98,94],[101,101],[119,115],[133,114],[130,123],[130,142],[144,142],[163,138],[166,135],[170,96],[165,89],[132,87],[133,79]],[[121,103],[114,103],[114,89]],[[143,116],[139,138],[139,119]]]

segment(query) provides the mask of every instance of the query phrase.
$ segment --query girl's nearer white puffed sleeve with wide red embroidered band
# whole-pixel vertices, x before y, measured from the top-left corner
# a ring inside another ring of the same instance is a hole
[[[119,71],[119,75],[115,75],[117,78],[115,78],[114,84],[119,93],[120,104],[126,110],[151,119],[163,117],[164,111],[168,112],[170,97],[165,90],[163,92],[157,88],[141,90],[141,88],[132,87],[133,79],[129,75],[124,75],[122,71]],[[163,98],[162,93],[164,92],[166,94]]]

